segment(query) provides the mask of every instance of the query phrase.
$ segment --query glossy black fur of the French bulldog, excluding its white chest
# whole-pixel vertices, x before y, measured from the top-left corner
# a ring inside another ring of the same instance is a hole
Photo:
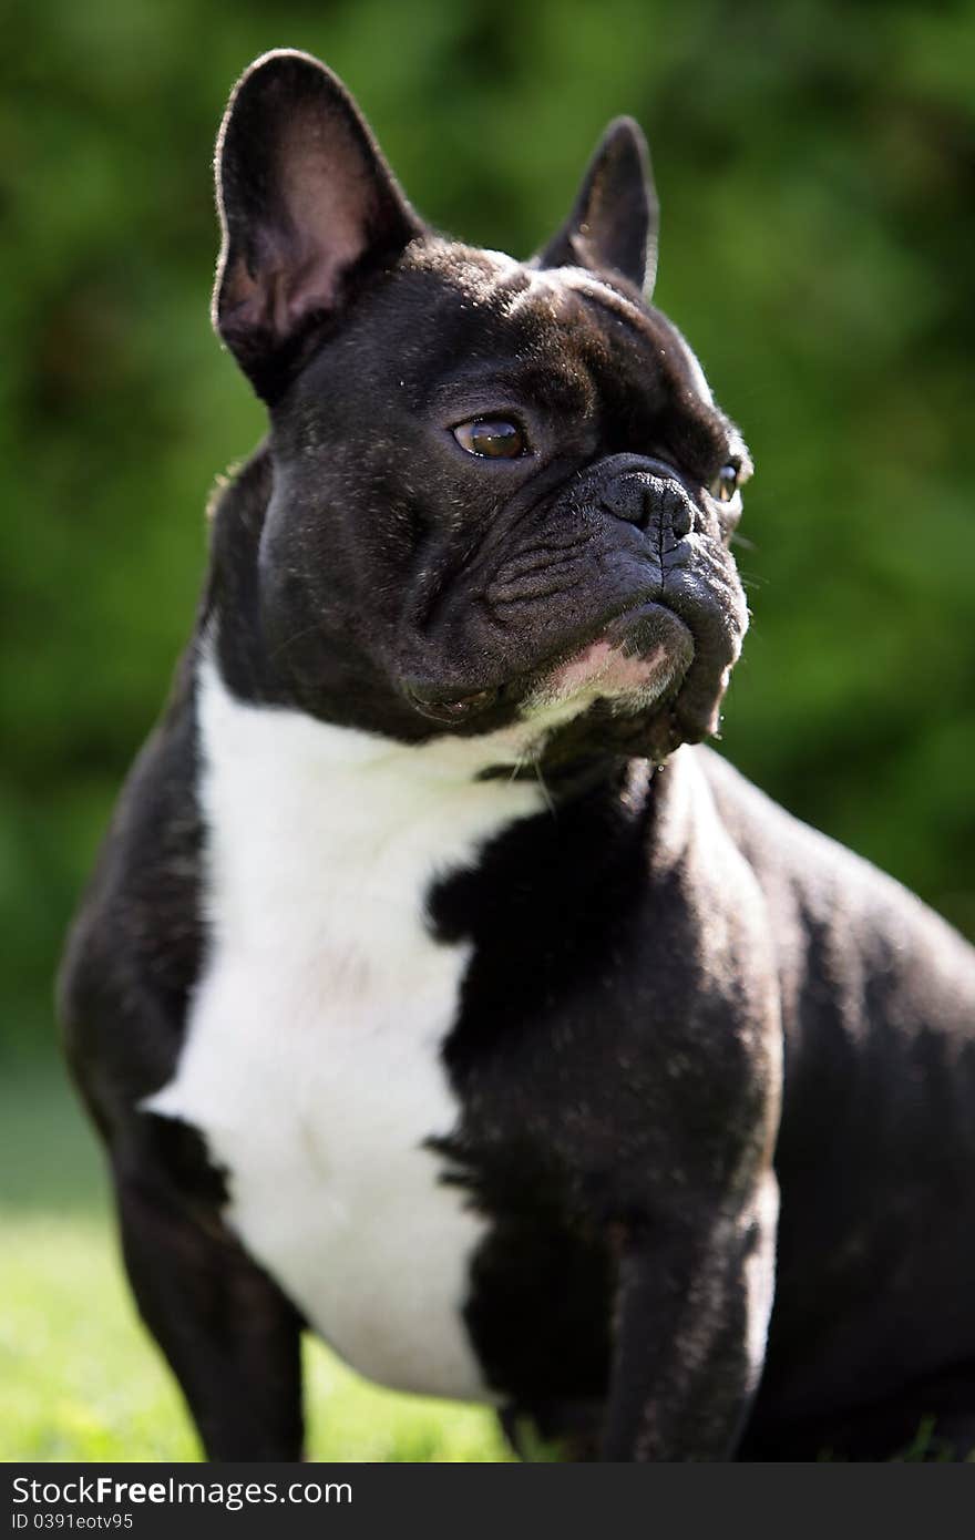
[[[662,650],[653,708],[556,732],[527,772],[551,810],[428,893],[433,933],[471,942],[444,1044],[464,1110],[436,1141],[490,1220],[471,1341],[516,1443],[533,1426],[575,1458],[890,1457],[930,1417],[963,1457],[975,959],[690,747],[747,621],[738,504],[707,488],[749,460],[641,302],[656,205],[638,131],[607,136],[564,229],[507,270],[417,220],[303,55],[253,68],[220,143],[216,316],[271,431],[217,504],[197,638],[62,972],[132,1287],[209,1457],[299,1455],[302,1323],[226,1229],[196,1130],[137,1107],[173,1075],[206,961],[203,636],[240,699],[404,744],[518,721],[595,639]],[[533,453],[479,464],[450,430],[501,408]]]

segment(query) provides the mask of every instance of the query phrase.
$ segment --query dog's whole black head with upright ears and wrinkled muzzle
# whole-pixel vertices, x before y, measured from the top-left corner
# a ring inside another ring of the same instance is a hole
[[[659,759],[713,732],[747,624],[727,547],[749,459],[644,302],[636,126],[527,263],[424,226],[300,54],[248,71],[217,160],[216,323],[271,413],[279,698],[511,759]]]

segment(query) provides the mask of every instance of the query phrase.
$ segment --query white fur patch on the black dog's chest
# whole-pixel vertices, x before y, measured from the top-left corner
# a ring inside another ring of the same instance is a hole
[[[457,1120],[441,1046],[468,949],[424,899],[541,788],[477,782],[485,739],[404,748],[245,705],[208,662],[199,727],[209,959],[146,1106],[202,1130],[231,1226],[351,1364],[485,1397],[461,1317],[484,1221],[425,1144]]]

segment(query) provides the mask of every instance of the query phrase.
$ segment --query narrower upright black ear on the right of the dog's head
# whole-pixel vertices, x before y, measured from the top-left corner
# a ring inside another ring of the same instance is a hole
[[[608,268],[648,300],[656,279],[658,228],[647,140],[632,117],[618,117],[596,146],[571,214],[533,260],[541,268]]]

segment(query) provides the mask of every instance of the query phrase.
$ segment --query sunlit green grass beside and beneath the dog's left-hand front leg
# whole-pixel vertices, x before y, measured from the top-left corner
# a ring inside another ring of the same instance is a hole
[[[102,1161],[59,1067],[0,1086],[0,1458],[196,1460],[122,1275]],[[305,1346],[314,1460],[507,1458],[476,1408],[367,1384]]]

